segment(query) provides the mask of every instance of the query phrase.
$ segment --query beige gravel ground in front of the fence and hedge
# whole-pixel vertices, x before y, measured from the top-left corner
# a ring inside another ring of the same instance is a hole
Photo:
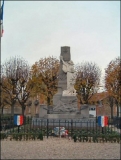
[[[86,143],[66,138],[1,141],[1,159],[120,159],[118,143]]]

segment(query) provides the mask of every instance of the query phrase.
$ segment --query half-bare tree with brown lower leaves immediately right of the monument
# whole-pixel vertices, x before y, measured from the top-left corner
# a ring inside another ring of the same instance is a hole
[[[99,89],[101,70],[92,62],[84,62],[75,66],[75,89],[80,104],[88,104],[91,96]]]

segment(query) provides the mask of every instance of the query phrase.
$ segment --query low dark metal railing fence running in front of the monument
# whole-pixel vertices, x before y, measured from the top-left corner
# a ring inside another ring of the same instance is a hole
[[[73,137],[75,134],[85,135],[102,135],[102,134],[120,134],[120,119],[108,120],[108,126],[100,127],[97,123],[97,117],[92,119],[40,119],[24,117],[24,124],[22,126],[14,125],[13,117],[1,117],[0,130],[3,133],[31,133],[42,132],[47,138],[49,136],[60,136],[61,127],[68,130],[68,136]],[[54,128],[58,127],[58,135],[54,134]]]

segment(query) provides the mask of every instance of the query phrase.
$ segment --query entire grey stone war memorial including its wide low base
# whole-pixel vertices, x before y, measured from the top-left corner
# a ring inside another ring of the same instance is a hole
[[[39,117],[48,119],[80,119],[89,117],[87,105],[78,107],[74,89],[74,63],[70,47],[61,47],[58,91],[53,97],[53,106],[41,106]]]

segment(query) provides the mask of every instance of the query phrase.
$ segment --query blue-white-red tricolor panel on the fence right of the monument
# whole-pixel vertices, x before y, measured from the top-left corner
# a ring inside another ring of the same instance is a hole
[[[108,126],[108,117],[107,116],[99,116],[98,117],[98,125],[101,127]]]

